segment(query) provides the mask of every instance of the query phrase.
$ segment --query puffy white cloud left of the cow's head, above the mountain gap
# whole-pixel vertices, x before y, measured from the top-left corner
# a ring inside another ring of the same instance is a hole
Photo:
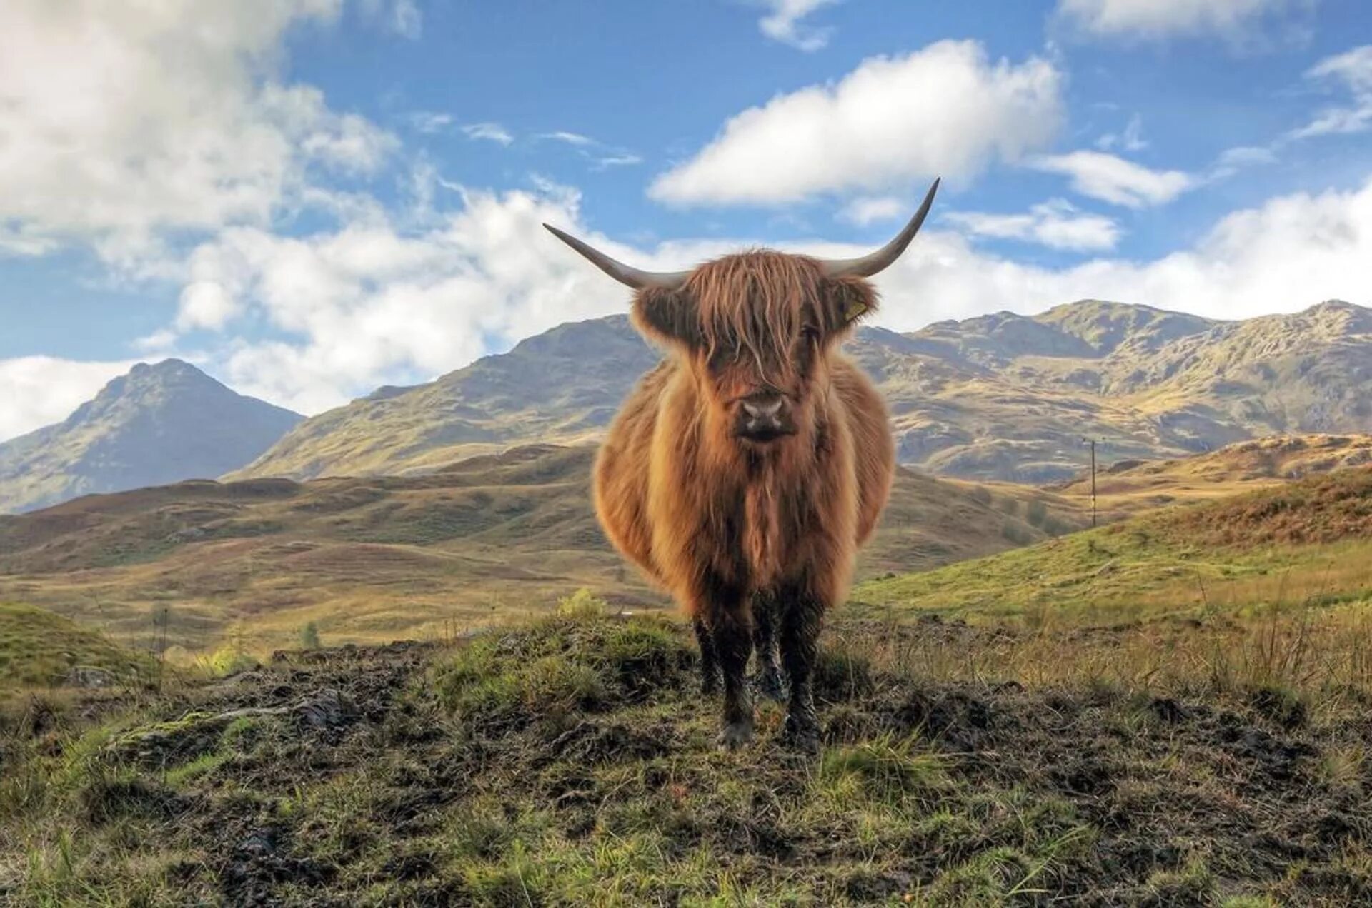
[[[252,311],[281,339],[226,337],[211,359],[235,388],[313,413],[456,369],[491,342],[626,311],[627,291],[542,228],[637,255],[580,224],[575,191],[460,192],[461,210],[431,213],[417,232],[381,217],[306,237],[230,228],[192,256],[174,329]]]

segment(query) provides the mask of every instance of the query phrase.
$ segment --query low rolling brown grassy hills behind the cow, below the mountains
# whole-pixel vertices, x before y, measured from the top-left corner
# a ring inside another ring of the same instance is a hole
[[[269,650],[451,634],[587,587],[667,598],[620,560],[590,503],[593,449],[532,446],[405,477],[192,481],[0,517],[0,598],[147,649]],[[1080,527],[1080,502],[901,470],[862,576],[1002,551]]]

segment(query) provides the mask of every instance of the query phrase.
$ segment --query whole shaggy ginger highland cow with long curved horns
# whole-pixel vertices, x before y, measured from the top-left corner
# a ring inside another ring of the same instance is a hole
[[[779,694],[778,643],[783,737],[819,746],[820,625],[848,593],[895,469],[885,405],[838,344],[875,311],[866,278],[906,250],[937,188],[895,240],[844,261],[761,250],[649,273],[545,225],[637,291],[634,325],[670,351],[601,446],[595,513],[690,614],[707,691],[716,665],[723,675],[724,746],[753,734],[755,646],[759,686]]]

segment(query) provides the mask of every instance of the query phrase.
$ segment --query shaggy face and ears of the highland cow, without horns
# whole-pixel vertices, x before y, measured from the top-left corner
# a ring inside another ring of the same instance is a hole
[[[701,265],[679,289],[641,291],[634,318],[681,350],[731,436],[767,446],[809,424],[833,347],[874,304],[862,278],[759,251]]]

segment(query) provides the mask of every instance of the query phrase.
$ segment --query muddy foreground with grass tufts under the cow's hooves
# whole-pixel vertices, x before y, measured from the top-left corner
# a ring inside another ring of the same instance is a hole
[[[686,635],[624,627],[32,698],[0,743],[0,903],[1372,904],[1369,709],[933,683],[859,628],[819,760],[775,706],[722,753]]]

